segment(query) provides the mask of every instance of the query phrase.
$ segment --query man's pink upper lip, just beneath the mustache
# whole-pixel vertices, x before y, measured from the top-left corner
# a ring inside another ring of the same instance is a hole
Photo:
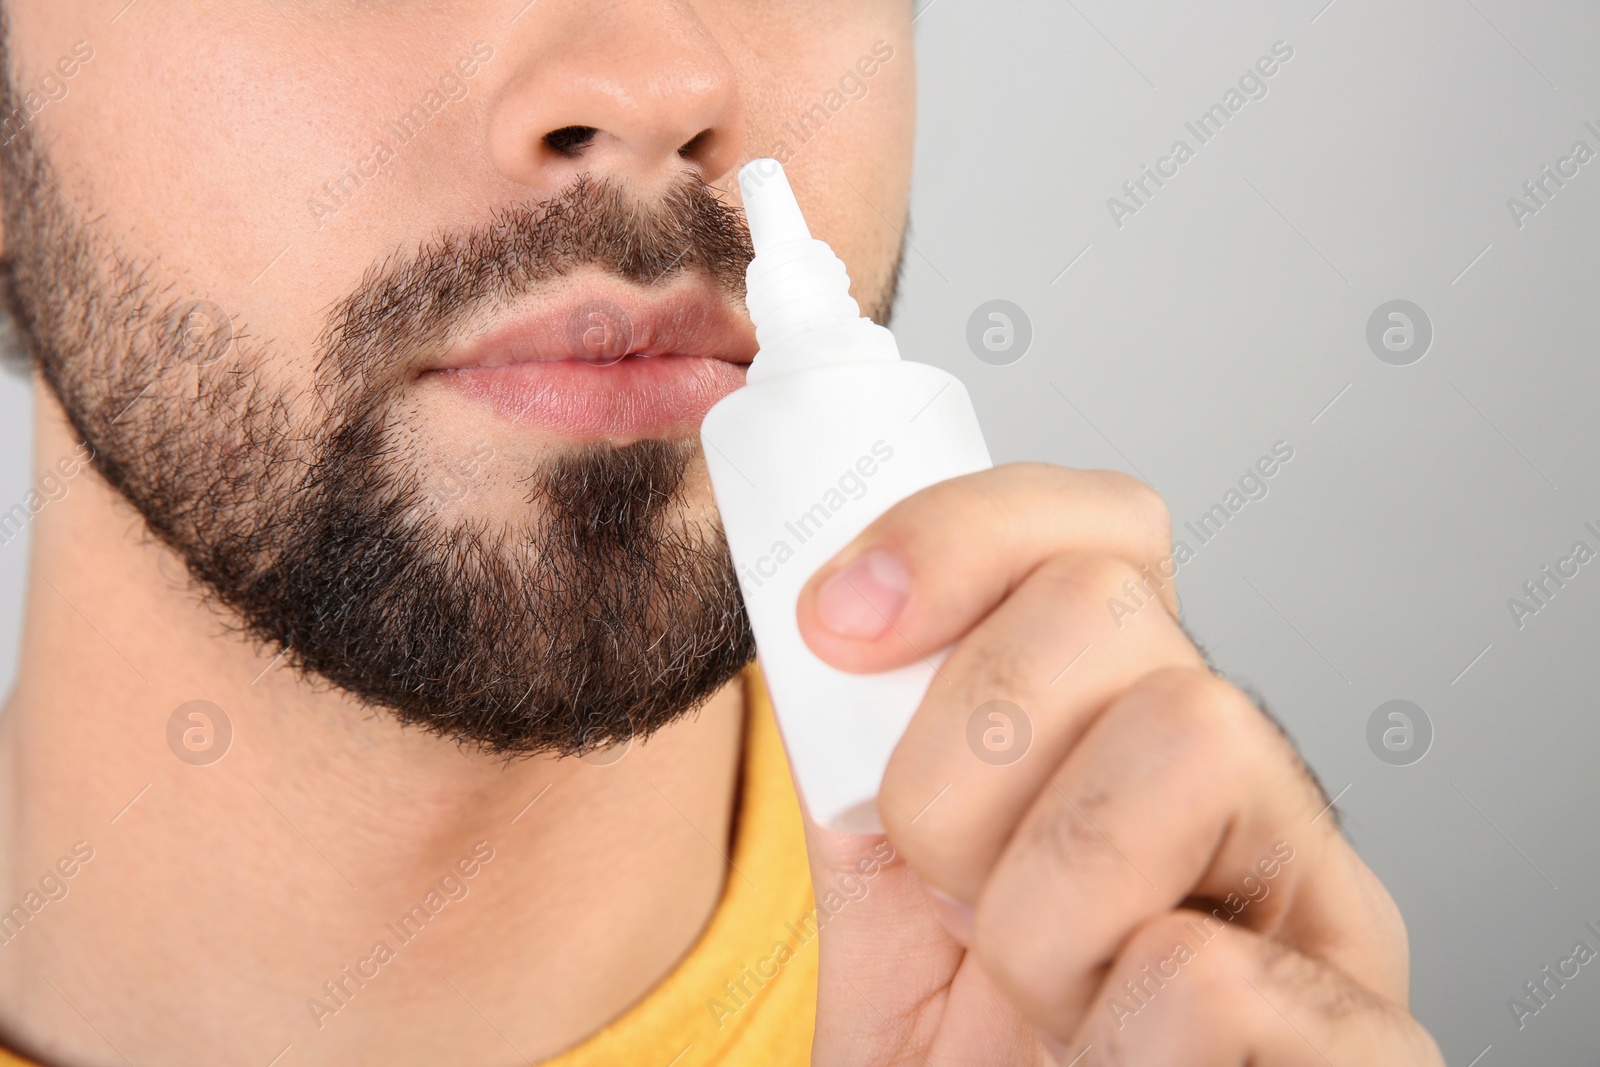
[[[605,346],[603,349],[600,346]],[[427,370],[477,370],[546,360],[613,363],[626,355],[691,355],[749,363],[750,320],[709,282],[646,291],[624,283],[582,285],[558,298],[514,306],[461,338]]]

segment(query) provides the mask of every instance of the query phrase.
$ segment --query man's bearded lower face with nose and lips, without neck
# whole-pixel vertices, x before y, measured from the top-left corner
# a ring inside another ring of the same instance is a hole
[[[734,171],[886,317],[906,0],[5,3],[8,304],[253,640],[501,752],[750,654],[696,430],[754,354]]]

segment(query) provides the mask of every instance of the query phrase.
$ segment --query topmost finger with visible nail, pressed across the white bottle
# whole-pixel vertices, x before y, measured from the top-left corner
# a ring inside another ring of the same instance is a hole
[[[966,633],[1067,550],[1128,561],[1133,595],[1176,613],[1170,526],[1154,490],[1109,470],[1013,464],[890,509],[806,582],[800,632],[842,670],[901,667]]]

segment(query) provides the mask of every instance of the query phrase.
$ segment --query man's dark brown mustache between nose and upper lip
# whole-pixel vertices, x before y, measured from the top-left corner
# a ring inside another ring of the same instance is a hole
[[[328,315],[318,378],[330,386],[370,379],[408,352],[446,344],[475,315],[581,267],[638,285],[704,272],[742,301],[754,258],[744,213],[694,174],[656,203],[582,174],[549,200],[502,208],[483,226],[370,267]]]

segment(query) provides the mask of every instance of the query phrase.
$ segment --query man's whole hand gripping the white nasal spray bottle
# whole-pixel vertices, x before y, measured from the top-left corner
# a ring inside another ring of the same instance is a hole
[[[806,584],[835,667],[954,645],[883,781],[888,843],[806,825],[837,904],[814,1064],[1443,1064],[1394,901],[1178,624],[1170,557],[1149,486],[1019,464],[912,496]]]

